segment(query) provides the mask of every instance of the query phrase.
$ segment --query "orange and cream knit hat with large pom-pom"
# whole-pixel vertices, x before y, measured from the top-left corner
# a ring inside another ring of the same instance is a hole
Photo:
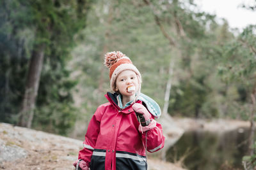
[[[141,89],[140,71],[132,64],[132,61],[122,52],[108,52],[105,54],[104,65],[109,68],[110,87],[115,91],[115,82],[118,74],[124,70],[131,70],[136,73],[139,89]]]

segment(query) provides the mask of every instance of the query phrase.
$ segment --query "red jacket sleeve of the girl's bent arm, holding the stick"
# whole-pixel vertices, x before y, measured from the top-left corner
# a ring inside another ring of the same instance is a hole
[[[144,128],[149,129],[142,134],[143,143],[144,146],[147,146],[147,151],[152,153],[163,148],[165,138],[163,136],[163,129],[161,124],[157,123],[152,116],[150,124],[148,125],[148,127]]]

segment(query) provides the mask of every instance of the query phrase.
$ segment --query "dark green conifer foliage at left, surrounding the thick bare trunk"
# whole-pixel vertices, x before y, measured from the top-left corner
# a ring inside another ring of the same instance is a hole
[[[67,61],[74,34],[86,25],[90,1],[1,1],[1,113],[3,122],[16,124],[31,53],[45,44],[33,127],[67,135],[76,121]]]

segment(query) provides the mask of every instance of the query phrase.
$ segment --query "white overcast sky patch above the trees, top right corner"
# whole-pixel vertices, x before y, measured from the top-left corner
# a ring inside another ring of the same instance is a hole
[[[246,25],[256,24],[256,11],[239,7],[241,4],[255,4],[255,0],[195,0],[202,11],[226,18],[232,28],[242,30]]]

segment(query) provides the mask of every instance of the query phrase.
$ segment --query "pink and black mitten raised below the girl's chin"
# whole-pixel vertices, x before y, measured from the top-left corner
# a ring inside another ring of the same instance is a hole
[[[147,108],[142,104],[135,103],[132,105],[132,109],[135,111],[138,121],[141,123],[142,126],[147,126],[150,124],[150,113],[148,112]],[[139,120],[139,118],[140,120]]]

